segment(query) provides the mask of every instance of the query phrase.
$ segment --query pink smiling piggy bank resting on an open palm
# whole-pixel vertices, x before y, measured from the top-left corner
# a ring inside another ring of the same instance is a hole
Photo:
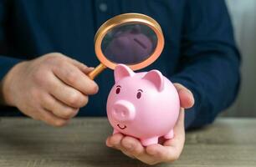
[[[119,64],[115,85],[107,100],[107,115],[115,133],[141,140],[144,146],[158,138],[173,138],[180,101],[174,85],[161,72],[134,73]]]

